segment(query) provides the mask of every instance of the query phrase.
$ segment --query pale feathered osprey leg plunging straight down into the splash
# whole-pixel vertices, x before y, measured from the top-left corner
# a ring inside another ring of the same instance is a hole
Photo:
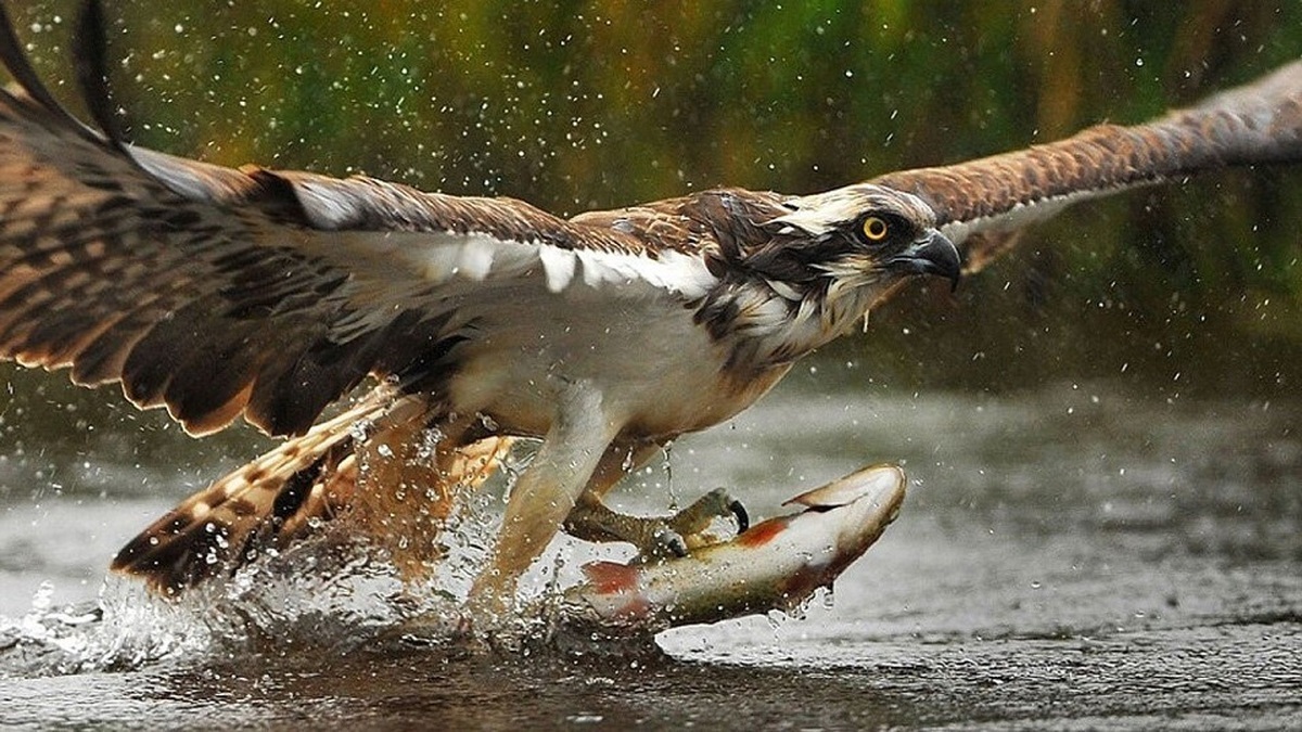
[[[561,396],[542,447],[510,491],[490,563],[470,589],[467,613],[477,624],[505,617],[519,576],[560,530],[620,430],[603,410],[600,392],[575,383]]]

